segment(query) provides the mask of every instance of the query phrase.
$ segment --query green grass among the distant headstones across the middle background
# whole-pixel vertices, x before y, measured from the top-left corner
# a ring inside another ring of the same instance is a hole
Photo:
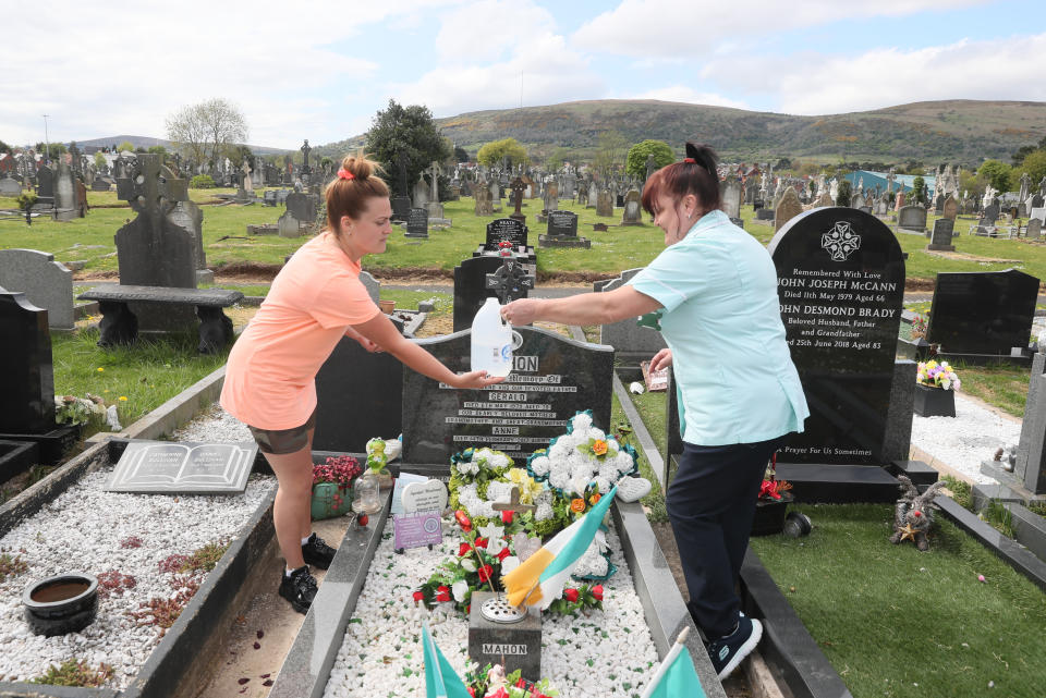
[[[266,207],[260,203],[252,206],[211,206],[217,193],[231,194],[234,189],[191,189],[193,200],[204,209],[204,249],[207,264],[211,267],[236,262],[255,262],[280,266],[283,258],[297,249],[308,237],[288,240],[278,235],[247,236],[246,225],[275,223],[283,212],[283,207]],[[58,261],[86,260],[87,272],[114,271],[117,258],[106,257],[115,250],[113,235],[134,211],[117,199],[114,192],[88,192],[88,203],[96,208],[84,219],[74,219],[66,223],[49,219],[37,219],[32,226],[21,220],[0,221],[3,247],[27,247],[54,255]],[[119,208],[97,208],[98,206],[120,206]],[[15,208],[14,198],[0,197],[0,208]],[[389,238],[385,254],[364,259],[364,268],[381,269],[438,269],[450,271],[462,259],[470,257],[472,250],[483,242],[486,224],[494,218],[508,216],[511,210],[506,204],[496,216],[477,217],[474,215],[472,198],[459,201],[446,201],[445,215],[453,224],[442,231],[431,231],[428,241],[408,240],[403,230],[396,226]],[[537,245],[537,236],[545,225],[537,222],[540,199],[527,199],[523,213],[531,229],[531,243]],[[620,228],[618,223],[621,210],[616,209],[612,217],[597,217],[594,209],[575,205],[562,199],[560,208],[572,210],[579,216],[577,232],[592,240],[592,249],[542,249],[538,255],[538,271],[542,273],[576,272],[585,274],[616,274],[623,269],[647,265],[664,249],[664,235],[660,229],[643,216],[644,224],[636,228]],[[754,222],[755,215],[751,206],[743,206],[741,218],[745,230],[766,244],[774,236],[773,225]],[[936,217],[931,213],[927,225],[933,228]],[[592,224],[605,222],[610,225],[607,232],[595,232]],[[1018,267],[1039,279],[1046,279],[1046,245],[1023,241],[993,240],[975,237],[965,233],[968,221],[959,221],[962,235],[954,240],[957,250],[995,259],[1010,261],[977,262],[972,260],[946,259],[929,255],[925,250],[926,238],[919,235],[898,235],[901,247],[909,253],[909,279],[934,279],[938,271],[990,271]],[[85,249],[99,246],[96,249]]]

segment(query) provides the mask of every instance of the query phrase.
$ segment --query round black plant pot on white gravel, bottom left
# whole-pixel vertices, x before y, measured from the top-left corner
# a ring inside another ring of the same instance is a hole
[[[98,614],[98,579],[82,572],[49,577],[25,588],[22,605],[35,634],[76,633]]]

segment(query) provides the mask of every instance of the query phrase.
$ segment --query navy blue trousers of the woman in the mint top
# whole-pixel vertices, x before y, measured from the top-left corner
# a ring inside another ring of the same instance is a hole
[[[783,437],[723,446],[683,443],[666,504],[690,589],[690,613],[709,640],[738,624],[741,600],[734,587],[763,475],[782,442]]]

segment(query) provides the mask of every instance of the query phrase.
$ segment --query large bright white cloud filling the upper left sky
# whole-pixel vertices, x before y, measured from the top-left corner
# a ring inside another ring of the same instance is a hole
[[[378,68],[372,57],[352,54],[351,40],[340,50],[331,40],[418,12],[419,4],[447,3],[122,1],[104,12],[78,0],[23,3],[4,13],[0,137],[42,140],[44,113],[53,140],[162,137],[170,113],[223,97],[244,111],[251,143],[297,147],[309,134],[329,132],[338,117],[337,81],[366,79]],[[314,19],[337,34],[317,30]]]

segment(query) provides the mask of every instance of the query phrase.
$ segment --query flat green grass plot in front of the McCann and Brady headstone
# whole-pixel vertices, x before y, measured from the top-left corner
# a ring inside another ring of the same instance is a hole
[[[811,536],[751,546],[855,698],[1042,695],[1046,598],[986,548],[942,516],[929,552],[890,544],[891,505],[792,509]]]

